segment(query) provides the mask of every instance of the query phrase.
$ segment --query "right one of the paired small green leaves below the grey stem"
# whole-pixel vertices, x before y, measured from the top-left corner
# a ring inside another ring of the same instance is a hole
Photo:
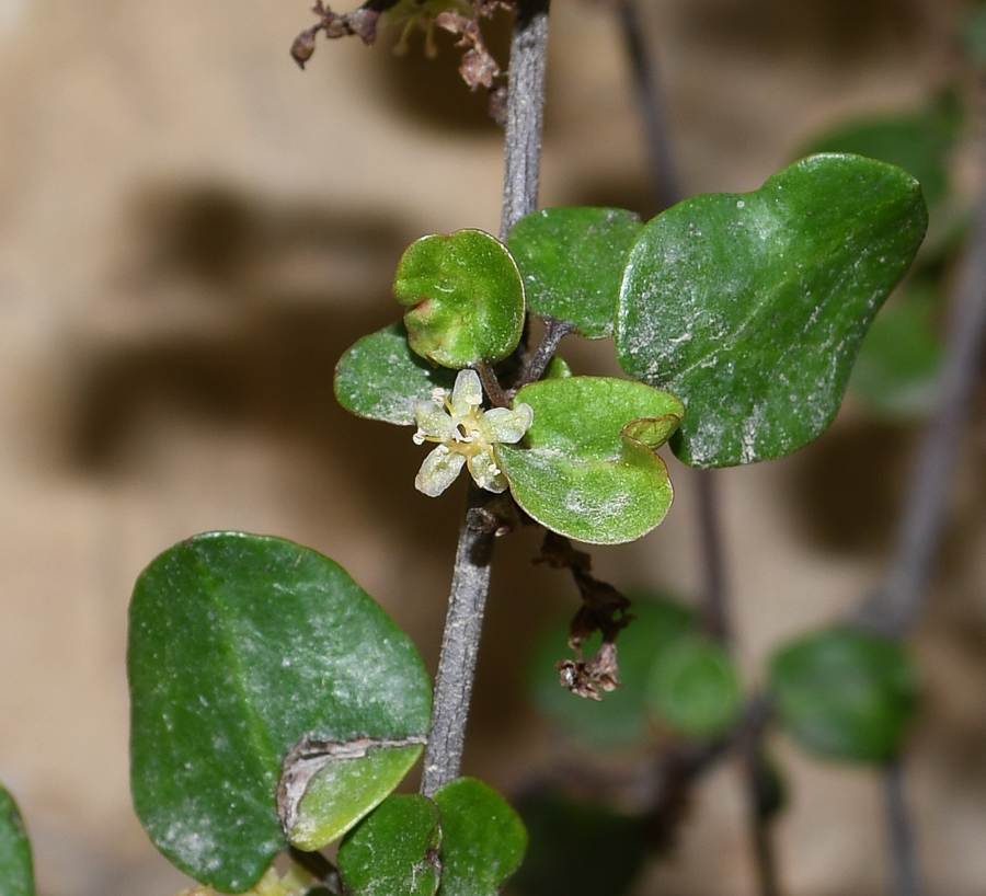
[[[442,816],[442,896],[497,896],[527,849],[517,813],[474,778],[446,784],[435,803]]]

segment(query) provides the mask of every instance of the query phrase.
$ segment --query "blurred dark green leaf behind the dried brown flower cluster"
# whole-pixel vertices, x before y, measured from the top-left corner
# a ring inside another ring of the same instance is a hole
[[[640,744],[647,732],[647,679],[654,657],[695,629],[695,613],[663,597],[631,595],[633,621],[617,639],[621,688],[599,702],[576,697],[559,684],[555,664],[570,656],[569,617],[559,618],[546,632],[534,655],[530,692],[548,717],[583,744],[595,749],[619,749]],[[603,643],[596,632],[583,644],[593,656]]]

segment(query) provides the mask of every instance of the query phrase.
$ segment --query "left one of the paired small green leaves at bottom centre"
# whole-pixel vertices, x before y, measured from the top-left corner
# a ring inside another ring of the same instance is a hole
[[[353,896],[434,896],[439,883],[438,807],[424,796],[388,796],[339,848]]]

